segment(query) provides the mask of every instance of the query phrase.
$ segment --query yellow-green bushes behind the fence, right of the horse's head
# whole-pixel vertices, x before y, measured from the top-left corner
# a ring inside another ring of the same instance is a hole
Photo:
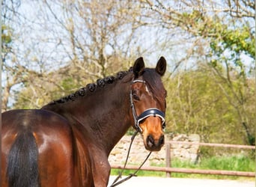
[[[237,103],[233,91],[243,92],[246,99],[243,105],[253,132],[255,83],[249,79],[247,85],[240,79],[233,79],[232,82],[234,86],[230,88],[223,79],[213,76],[210,70],[186,71],[169,79],[165,84],[168,90],[167,132],[197,133],[201,135],[201,141],[206,142],[248,144],[240,114],[230,104],[230,99]]]

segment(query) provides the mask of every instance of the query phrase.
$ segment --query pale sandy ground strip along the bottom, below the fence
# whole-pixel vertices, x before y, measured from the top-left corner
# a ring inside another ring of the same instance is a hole
[[[123,177],[124,178],[124,177]],[[109,184],[115,180],[114,176],[109,179]],[[184,178],[163,178],[163,177],[132,177],[120,187],[255,187],[254,181],[240,180],[204,180]]]

